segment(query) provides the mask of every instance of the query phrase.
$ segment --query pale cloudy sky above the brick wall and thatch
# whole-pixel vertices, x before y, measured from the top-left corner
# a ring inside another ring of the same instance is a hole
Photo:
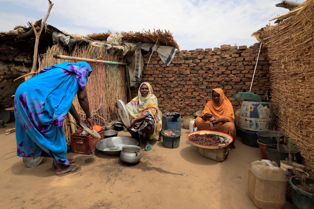
[[[257,42],[253,32],[289,12],[275,7],[281,0],[51,1],[54,5],[46,23],[69,34],[166,29],[180,50],[252,45]],[[0,31],[44,18],[47,9],[46,0],[0,0]]]

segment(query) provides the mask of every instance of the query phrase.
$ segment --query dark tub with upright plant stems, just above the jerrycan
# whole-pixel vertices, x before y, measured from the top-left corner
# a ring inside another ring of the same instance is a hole
[[[277,150],[277,144],[267,144],[265,145],[267,157],[269,160],[274,161],[280,166],[280,160],[285,160],[288,158],[289,153],[287,151],[287,145],[279,144],[279,151]],[[299,149],[293,151],[295,159],[298,159],[300,154]]]

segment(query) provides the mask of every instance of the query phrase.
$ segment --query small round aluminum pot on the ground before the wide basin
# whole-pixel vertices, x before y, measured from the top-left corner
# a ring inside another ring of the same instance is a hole
[[[136,145],[126,145],[122,147],[120,159],[125,163],[137,163],[142,158],[141,148]]]

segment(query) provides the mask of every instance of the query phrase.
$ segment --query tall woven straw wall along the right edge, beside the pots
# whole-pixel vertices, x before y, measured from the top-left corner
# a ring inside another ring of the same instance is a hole
[[[314,1],[263,32],[270,59],[275,125],[301,151],[314,176]]]

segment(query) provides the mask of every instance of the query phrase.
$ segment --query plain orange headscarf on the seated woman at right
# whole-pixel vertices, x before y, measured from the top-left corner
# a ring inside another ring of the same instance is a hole
[[[224,91],[220,88],[217,89],[212,89],[212,94],[213,91],[216,91],[219,93],[219,103],[216,104],[213,99],[210,99],[207,104],[205,105],[205,108],[203,112],[198,116],[202,117],[205,115],[205,113],[209,112],[213,114],[213,118],[227,118],[229,122],[234,123],[235,116],[233,112],[233,107],[231,102],[227,99],[227,97],[224,95]],[[213,97],[213,95],[212,95]]]

